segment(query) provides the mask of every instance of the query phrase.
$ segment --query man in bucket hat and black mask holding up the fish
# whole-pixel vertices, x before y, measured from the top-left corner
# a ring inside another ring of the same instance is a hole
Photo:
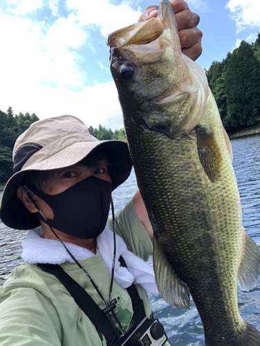
[[[184,1],[172,6],[183,51],[195,59],[201,54],[198,16]],[[156,16],[154,10],[147,8],[140,20]],[[127,335],[138,320],[135,300],[141,298],[150,318],[146,291],[156,293],[143,261],[152,253],[153,232],[139,192],[115,215],[116,255],[112,219],[106,228],[111,191],[131,172],[127,144],[98,141],[81,120],[60,116],[32,124],[13,153],[0,217],[12,228],[35,229],[23,242],[25,264],[0,291],[0,345],[106,345],[103,322],[91,322],[92,308],[80,309],[80,295],[48,271],[57,264],[89,294],[93,310],[96,305],[106,313],[112,334]],[[129,287],[136,287],[138,298]]]

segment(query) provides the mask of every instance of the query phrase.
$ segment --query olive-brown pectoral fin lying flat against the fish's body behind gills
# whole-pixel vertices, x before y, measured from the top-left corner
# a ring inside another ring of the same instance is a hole
[[[197,150],[207,177],[214,183],[221,175],[223,159],[213,129],[208,125],[197,126]]]

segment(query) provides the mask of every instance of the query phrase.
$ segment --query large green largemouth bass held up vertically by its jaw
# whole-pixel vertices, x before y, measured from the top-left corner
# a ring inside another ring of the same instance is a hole
[[[158,291],[182,309],[192,295],[206,346],[260,345],[237,303],[237,285],[248,291],[259,277],[259,248],[242,226],[228,134],[204,71],[181,53],[169,1],[106,43],[154,230]]]

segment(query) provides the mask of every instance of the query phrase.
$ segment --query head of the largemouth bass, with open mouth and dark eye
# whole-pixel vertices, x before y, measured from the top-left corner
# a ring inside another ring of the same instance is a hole
[[[181,53],[169,1],[160,1],[156,18],[111,33],[107,44],[125,125],[134,121],[171,137],[194,128],[202,114],[194,120],[198,82],[190,71],[192,60]]]

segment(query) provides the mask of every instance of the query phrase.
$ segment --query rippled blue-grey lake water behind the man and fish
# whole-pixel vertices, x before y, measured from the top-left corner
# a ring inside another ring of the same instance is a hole
[[[260,246],[260,135],[233,139],[232,147],[243,226]],[[113,192],[115,210],[124,206],[136,190],[136,177],[131,172],[129,179]],[[0,221],[0,286],[10,271],[21,264],[20,244],[26,234],[11,230]],[[260,280],[249,292],[238,289],[238,300],[241,316],[260,331]],[[182,310],[171,307],[160,296],[150,295],[150,301],[155,316],[163,322],[171,345],[205,346],[203,325],[193,302],[190,310]]]

